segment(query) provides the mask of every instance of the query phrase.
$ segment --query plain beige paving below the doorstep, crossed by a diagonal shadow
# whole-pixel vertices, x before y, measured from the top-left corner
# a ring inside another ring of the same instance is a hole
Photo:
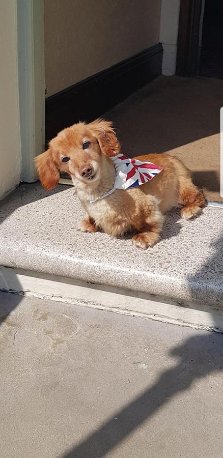
[[[223,335],[0,293],[1,458],[222,455]]]

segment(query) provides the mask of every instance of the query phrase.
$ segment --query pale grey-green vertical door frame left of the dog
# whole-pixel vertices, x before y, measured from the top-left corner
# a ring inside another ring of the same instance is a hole
[[[45,148],[44,0],[17,0],[21,181],[36,181]]]

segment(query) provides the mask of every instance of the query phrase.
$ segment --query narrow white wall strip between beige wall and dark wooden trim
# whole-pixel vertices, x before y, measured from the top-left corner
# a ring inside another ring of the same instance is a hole
[[[163,46],[163,75],[176,72],[179,13],[180,0],[162,0],[159,41]]]

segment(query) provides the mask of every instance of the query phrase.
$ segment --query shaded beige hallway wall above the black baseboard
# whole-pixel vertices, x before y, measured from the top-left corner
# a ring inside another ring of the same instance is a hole
[[[159,41],[161,0],[44,0],[47,95]]]

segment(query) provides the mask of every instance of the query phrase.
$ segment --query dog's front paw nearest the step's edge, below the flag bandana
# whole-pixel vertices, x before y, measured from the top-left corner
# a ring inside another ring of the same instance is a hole
[[[143,250],[146,250],[148,246],[154,246],[160,239],[162,221],[161,214],[157,221],[151,221],[150,218],[146,218],[145,227],[141,229],[141,232],[132,237],[133,245]]]

